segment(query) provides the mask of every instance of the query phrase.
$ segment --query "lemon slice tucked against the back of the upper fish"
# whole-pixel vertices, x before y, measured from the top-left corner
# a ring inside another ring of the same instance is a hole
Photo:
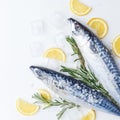
[[[104,38],[108,33],[107,22],[101,18],[90,19],[88,25],[96,31],[99,38]]]

